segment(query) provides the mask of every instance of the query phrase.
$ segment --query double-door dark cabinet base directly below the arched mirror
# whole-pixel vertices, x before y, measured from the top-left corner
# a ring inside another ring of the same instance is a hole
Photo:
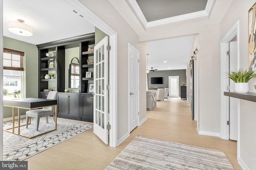
[[[78,93],[58,93],[58,117],[80,120]]]

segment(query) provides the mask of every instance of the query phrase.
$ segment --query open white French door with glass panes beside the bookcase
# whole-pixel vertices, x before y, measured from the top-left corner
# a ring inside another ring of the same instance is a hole
[[[94,133],[108,145],[108,37],[94,47]]]

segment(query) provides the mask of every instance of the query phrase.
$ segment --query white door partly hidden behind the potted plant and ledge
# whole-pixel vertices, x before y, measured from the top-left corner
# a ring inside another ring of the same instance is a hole
[[[229,69],[230,72],[235,71],[238,69],[237,64],[237,49],[236,49],[236,41],[232,41],[229,43]],[[230,80],[230,92],[234,92],[235,83],[233,80]],[[229,139],[237,141],[237,134],[238,134],[238,102],[239,99],[237,98],[229,98]]]

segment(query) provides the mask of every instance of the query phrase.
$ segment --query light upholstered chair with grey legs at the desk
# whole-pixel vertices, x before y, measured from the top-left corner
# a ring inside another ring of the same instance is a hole
[[[57,91],[50,91],[48,93],[47,99],[56,100],[57,94],[58,94]],[[28,122],[30,117],[36,118],[36,131],[38,131],[40,117],[46,117],[46,123],[48,123],[48,116],[53,116],[53,120],[55,122],[55,107],[56,106],[50,106],[50,107],[43,107],[42,109],[26,111],[26,128],[28,128]]]

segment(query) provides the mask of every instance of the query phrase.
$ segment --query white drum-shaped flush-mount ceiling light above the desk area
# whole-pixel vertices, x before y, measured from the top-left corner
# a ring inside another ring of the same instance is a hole
[[[22,36],[32,36],[33,29],[29,25],[23,23],[23,20],[18,19],[19,22],[8,22],[7,27],[8,31]]]

